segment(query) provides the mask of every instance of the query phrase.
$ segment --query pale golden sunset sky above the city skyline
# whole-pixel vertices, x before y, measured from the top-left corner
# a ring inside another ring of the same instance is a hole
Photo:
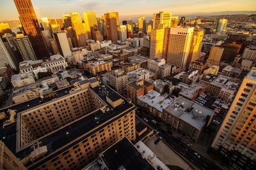
[[[217,11],[256,11],[255,0],[31,0],[36,17],[61,18],[63,13],[95,11],[100,16],[118,11],[120,18],[150,16],[159,11],[173,15]],[[18,20],[13,0],[0,0],[0,20]]]

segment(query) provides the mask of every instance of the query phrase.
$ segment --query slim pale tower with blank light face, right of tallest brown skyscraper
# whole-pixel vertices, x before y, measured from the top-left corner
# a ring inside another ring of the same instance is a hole
[[[54,33],[54,39],[58,46],[59,52],[63,57],[66,58],[72,55],[70,47],[68,45],[67,34],[65,32]]]

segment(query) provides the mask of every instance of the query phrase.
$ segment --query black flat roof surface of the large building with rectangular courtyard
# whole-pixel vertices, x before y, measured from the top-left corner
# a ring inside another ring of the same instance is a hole
[[[59,93],[61,91],[63,92],[63,96],[68,95],[68,89],[71,90],[72,87],[59,90]],[[124,115],[126,115],[127,113],[135,109],[133,104],[128,103],[124,99],[124,97],[117,94],[114,90],[106,86],[104,83],[100,83],[98,87],[89,88],[89,90],[95,93],[97,97],[102,99],[102,101],[106,104],[106,106],[109,109],[103,112],[99,108],[98,110],[95,110],[92,113],[89,113],[88,115],[85,115],[84,117],[81,117],[75,120],[74,122],[71,122],[70,124],[67,124],[57,129],[56,131],[51,132],[51,134],[47,134],[45,136],[42,136],[42,138],[36,139],[29,145],[24,146],[24,148],[22,148],[20,152],[16,152],[16,149],[17,149],[16,148],[17,130],[15,130],[17,128],[16,122],[6,126],[3,129],[3,131],[1,131],[1,134],[0,134],[1,139],[3,138],[3,136],[6,137],[6,139],[4,139],[5,145],[8,146],[8,148],[10,148],[13,154],[16,155],[16,157],[19,159],[24,159],[31,152],[33,152],[33,147],[31,147],[31,145],[33,145],[33,143],[35,143],[36,141],[40,143],[40,146],[47,146],[48,152],[44,155],[44,158],[40,158],[40,161],[35,160],[34,163],[28,162],[28,164],[26,164],[26,166],[28,166],[29,169],[35,169],[36,167],[42,166],[42,164],[45,164],[45,162],[51,159],[54,159],[54,157],[57,157],[61,153],[77,145],[77,143],[80,143],[84,139],[92,136],[92,134],[94,134],[95,132],[113,123],[118,118],[123,117]],[[106,96],[108,96],[109,99],[111,100],[123,99],[123,102],[119,106],[116,106],[115,108],[113,108],[111,104],[107,102]],[[48,101],[51,101],[51,100],[52,99],[49,99]],[[45,102],[47,101],[44,101],[44,103]],[[33,108],[38,104],[40,104],[39,99],[34,99],[31,101],[28,101],[28,103],[26,102],[26,103],[17,104],[15,105],[16,106],[15,108],[19,109],[19,112],[20,112],[28,108]],[[20,108],[17,106],[20,106]],[[116,115],[119,115],[119,116],[116,117]],[[99,119],[95,120],[95,117]],[[112,119],[114,117],[116,118]],[[108,122],[108,120],[111,120],[111,121]],[[92,129],[95,129],[95,130],[92,131]],[[89,132],[89,131],[92,131],[92,132]],[[61,150],[59,150],[60,148]]]

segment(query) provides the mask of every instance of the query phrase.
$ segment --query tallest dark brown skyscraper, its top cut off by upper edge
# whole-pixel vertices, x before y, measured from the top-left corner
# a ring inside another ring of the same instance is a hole
[[[29,37],[37,59],[49,57],[31,0],[14,0],[20,15],[20,22]]]

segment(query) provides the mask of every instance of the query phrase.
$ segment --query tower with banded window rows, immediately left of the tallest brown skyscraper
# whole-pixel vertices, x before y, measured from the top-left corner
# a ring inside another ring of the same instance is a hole
[[[37,59],[28,36],[23,36],[23,34],[19,36],[18,34],[17,37],[14,38],[14,41],[20,50],[23,60]]]

